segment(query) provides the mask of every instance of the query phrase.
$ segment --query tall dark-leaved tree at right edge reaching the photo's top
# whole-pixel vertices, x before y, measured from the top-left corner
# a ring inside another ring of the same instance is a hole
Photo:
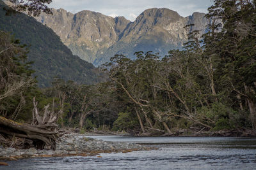
[[[214,50],[209,54],[218,57],[216,80],[219,91],[225,91],[240,110],[250,111],[256,128],[256,7],[255,1],[216,0],[209,8],[207,17],[220,19],[221,24],[212,25]],[[221,29],[221,31],[220,31]],[[207,41],[209,44],[209,41]],[[224,90],[225,89],[225,90]],[[231,93],[230,93],[231,91]]]

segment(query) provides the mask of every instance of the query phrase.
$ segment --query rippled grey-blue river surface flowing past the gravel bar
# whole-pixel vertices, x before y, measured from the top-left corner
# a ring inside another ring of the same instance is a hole
[[[8,161],[0,169],[256,169],[256,138],[90,136],[159,150]]]

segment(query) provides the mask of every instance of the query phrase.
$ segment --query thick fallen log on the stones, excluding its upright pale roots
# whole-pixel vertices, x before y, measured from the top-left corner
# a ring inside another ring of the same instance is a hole
[[[20,124],[4,117],[0,117],[0,133],[7,136],[31,139],[33,145],[38,149],[44,149],[44,146],[51,146],[56,149],[56,141],[60,138],[58,131],[49,131],[44,126]]]

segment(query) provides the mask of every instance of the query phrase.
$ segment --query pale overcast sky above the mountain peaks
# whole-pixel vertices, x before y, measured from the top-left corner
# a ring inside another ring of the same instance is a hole
[[[124,16],[133,21],[148,8],[169,8],[182,17],[193,12],[207,12],[213,0],[52,0],[51,8],[63,8],[72,13],[90,10],[111,17]]]

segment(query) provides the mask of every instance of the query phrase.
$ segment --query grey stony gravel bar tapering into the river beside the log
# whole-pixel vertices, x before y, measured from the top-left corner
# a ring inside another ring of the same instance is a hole
[[[102,141],[99,139],[87,138],[88,134],[70,133],[61,136],[56,143],[56,150],[36,150],[4,148],[0,146],[1,160],[17,160],[33,157],[69,157],[69,156],[88,156],[98,153],[109,152],[132,152],[138,150],[151,150],[146,146],[134,143],[115,143]]]

